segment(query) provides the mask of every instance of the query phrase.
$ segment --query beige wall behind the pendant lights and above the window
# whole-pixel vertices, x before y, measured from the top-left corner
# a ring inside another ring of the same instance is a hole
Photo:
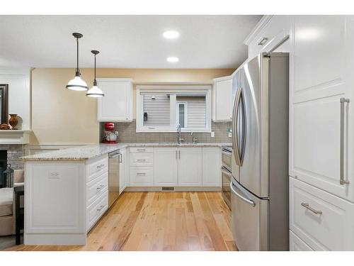
[[[234,69],[159,70],[98,69],[97,77],[130,77],[144,82],[203,82],[232,74]],[[74,77],[68,68],[35,69],[32,72],[32,130],[30,144],[91,144],[99,142],[96,99],[85,92],[65,89]],[[89,87],[93,70],[82,69],[81,77]],[[134,94],[135,95],[135,94]],[[135,106],[134,106],[135,110]]]

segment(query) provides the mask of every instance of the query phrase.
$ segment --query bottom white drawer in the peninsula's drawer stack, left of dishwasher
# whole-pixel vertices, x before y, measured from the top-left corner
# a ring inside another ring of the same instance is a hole
[[[86,209],[86,229],[89,231],[108,209],[108,190]]]

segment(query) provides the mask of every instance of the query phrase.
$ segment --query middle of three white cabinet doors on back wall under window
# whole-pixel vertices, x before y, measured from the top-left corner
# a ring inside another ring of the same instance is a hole
[[[202,148],[179,148],[178,184],[180,186],[202,185]]]

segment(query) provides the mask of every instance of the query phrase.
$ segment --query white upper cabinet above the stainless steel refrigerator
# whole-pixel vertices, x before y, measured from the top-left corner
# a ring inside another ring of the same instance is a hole
[[[263,16],[244,43],[249,45],[249,58],[260,52],[272,52],[289,36],[290,16]]]

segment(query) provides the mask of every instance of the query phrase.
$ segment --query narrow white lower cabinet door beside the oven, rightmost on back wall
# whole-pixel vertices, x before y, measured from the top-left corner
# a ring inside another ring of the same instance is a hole
[[[203,187],[220,187],[220,148],[202,148],[202,185]]]

